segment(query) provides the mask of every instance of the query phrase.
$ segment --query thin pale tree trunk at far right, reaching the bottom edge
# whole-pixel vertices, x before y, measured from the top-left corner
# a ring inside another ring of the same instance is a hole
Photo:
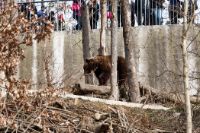
[[[182,40],[182,56],[183,56],[183,80],[185,89],[185,104],[187,116],[187,133],[192,133],[192,114],[189,92],[189,71],[188,71],[188,54],[187,54],[187,36],[188,36],[188,0],[184,1],[184,18],[183,18],[183,40]]]

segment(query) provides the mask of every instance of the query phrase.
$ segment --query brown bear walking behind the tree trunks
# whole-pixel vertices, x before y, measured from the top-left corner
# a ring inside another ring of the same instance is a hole
[[[86,63],[83,66],[84,74],[95,73],[96,78],[99,81],[99,85],[106,85],[107,81],[111,77],[111,55],[98,55],[91,59],[86,59]],[[117,72],[118,72],[118,86],[125,85],[127,81],[127,65],[124,57],[118,56],[117,60]]]

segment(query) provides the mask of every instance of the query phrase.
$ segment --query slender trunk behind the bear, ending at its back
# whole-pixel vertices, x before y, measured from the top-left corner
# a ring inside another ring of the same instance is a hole
[[[101,0],[101,32],[100,32],[100,48],[99,48],[99,55],[106,54],[106,24],[107,24],[107,16],[106,16],[106,0]]]

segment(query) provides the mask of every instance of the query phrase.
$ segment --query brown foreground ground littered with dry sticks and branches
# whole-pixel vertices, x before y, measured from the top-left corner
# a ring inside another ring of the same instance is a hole
[[[2,99],[0,106],[0,132],[185,132],[184,105],[164,111],[111,106],[81,99],[34,96]],[[200,105],[193,106],[194,133],[200,133],[199,114]]]

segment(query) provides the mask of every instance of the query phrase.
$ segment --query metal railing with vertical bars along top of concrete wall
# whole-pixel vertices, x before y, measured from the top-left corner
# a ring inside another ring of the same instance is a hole
[[[77,1],[77,3],[75,2]],[[194,0],[195,4],[189,0],[188,21],[193,21],[195,24],[200,24],[200,0]],[[82,0],[46,0],[44,2],[18,2],[19,6],[25,5],[28,8],[36,8],[37,16],[41,7],[44,7],[43,13],[54,25],[55,30],[80,30],[81,29],[81,7]],[[76,5],[73,5],[76,3]],[[34,5],[34,6],[30,6]],[[91,29],[100,28],[100,4],[99,2],[89,6],[90,25]],[[182,0],[131,0],[131,25],[168,25],[181,24],[183,21]],[[27,7],[25,7],[27,8]],[[111,4],[107,2],[107,26],[110,27],[111,22]],[[28,9],[26,12],[30,12]],[[194,11],[194,13],[193,13]],[[27,13],[30,14],[30,13]],[[29,15],[29,20],[31,15]],[[117,10],[118,27],[123,26],[121,4],[118,4]]]

